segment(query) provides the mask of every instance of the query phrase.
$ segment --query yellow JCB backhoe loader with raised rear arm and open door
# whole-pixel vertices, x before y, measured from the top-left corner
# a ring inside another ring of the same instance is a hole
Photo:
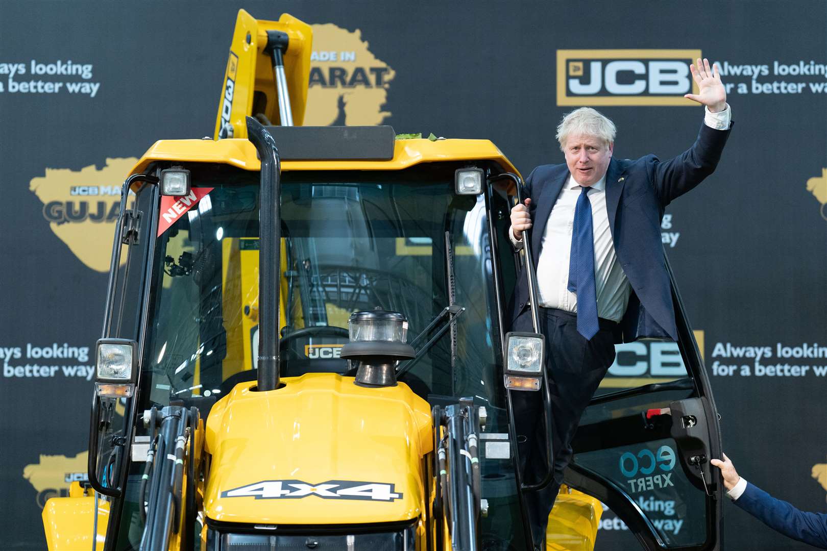
[[[46,504],[50,549],[532,549],[551,465],[521,480],[510,393],[543,393],[543,445],[552,420],[543,337],[505,314],[532,261],[505,236],[519,173],[488,140],[300,126],[311,39],[239,12],[215,139],[158,141],[123,184],[88,482]],[[601,501],[646,549],[717,549],[679,310],[686,376],[595,398],[547,549],[594,549]],[[630,453],[666,473],[664,446],[688,543],[614,475]]]

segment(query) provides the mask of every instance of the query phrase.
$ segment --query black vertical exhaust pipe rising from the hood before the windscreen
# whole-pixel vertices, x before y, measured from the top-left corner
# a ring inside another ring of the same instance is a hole
[[[270,132],[255,118],[246,120],[247,135],[261,158],[257,390],[270,391],[279,387],[281,160]]]

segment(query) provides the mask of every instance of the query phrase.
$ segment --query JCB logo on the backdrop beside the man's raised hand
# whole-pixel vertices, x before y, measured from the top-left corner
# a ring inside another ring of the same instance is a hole
[[[697,105],[700,50],[557,50],[557,105]]]

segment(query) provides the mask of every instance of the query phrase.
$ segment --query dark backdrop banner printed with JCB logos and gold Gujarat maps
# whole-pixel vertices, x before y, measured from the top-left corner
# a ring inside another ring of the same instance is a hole
[[[313,25],[308,124],[490,138],[527,174],[562,162],[563,113],[614,154],[694,140],[692,56],[736,126],[662,226],[739,472],[827,500],[827,4],[823,2],[0,3],[0,548],[44,549],[41,508],[85,471],[113,205],[153,141],[213,135],[239,7]],[[619,70],[620,69],[620,70]],[[664,97],[664,93],[667,94]],[[802,549],[734,506],[728,549]],[[633,549],[606,512],[598,549]]]

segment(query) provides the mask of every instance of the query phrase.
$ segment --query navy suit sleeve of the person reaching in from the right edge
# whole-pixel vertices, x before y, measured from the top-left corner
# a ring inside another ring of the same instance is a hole
[[[799,511],[749,482],[734,503],[788,538],[827,549],[827,515],[823,513]]]

